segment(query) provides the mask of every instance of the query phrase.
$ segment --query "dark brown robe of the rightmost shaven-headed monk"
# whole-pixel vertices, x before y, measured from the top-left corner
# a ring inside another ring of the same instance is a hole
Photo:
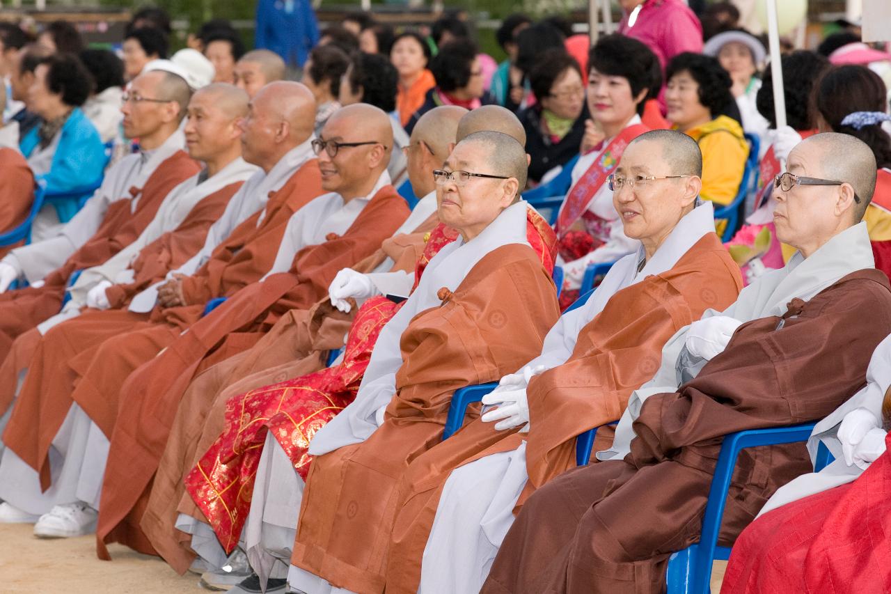
[[[645,400],[629,456],[562,474],[527,500],[483,591],[663,591],[668,557],[699,540],[721,437],[822,418],[865,383],[891,333],[883,276],[854,272],[782,318],[741,326],[680,392]],[[719,541],[809,468],[801,443],[743,451]]]

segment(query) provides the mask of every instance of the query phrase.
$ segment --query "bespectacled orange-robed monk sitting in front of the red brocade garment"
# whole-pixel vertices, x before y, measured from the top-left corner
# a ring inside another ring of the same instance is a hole
[[[559,310],[527,243],[518,194],[526,163],[510,136],[478,132],[435,171],[439,219],[461,239],[430,261],[381,331],[356,400],[310,442],[292,588],[368,590],[357,577],[377,573],[385,558],[380,526],[396,513],[399,477],[442,438],[454,390],[500,378],[541,351]]]

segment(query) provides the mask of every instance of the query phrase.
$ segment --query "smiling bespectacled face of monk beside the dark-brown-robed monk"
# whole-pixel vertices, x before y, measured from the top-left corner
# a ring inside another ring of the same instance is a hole
[[[651,140],[630,144],[616,169],[613,205],[622,218],[625,235],[640,240],[648,257],[699,193],[699,177],[670,177],[673,175],[663,145]]]

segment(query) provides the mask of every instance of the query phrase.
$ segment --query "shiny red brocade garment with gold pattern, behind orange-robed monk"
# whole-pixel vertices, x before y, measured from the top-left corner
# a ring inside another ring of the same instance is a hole
[[[429,235],[415,268],[414,287],[429,260],[458,236],[442,224]],[[527,210],[527,241],[544,267],[552,268],[556,235],[532,209]],[[306,479],[310,462],[307,446],[315,430],[355,399],[380,330],[400,308],[382,297],[367,301],[350,329],[339,365],[257,388],[226,403],[225,431],[186,477],[186,488],[227,552],[238,542],[248,516],[250,498],[246,495],[253,489],[266,427]]]

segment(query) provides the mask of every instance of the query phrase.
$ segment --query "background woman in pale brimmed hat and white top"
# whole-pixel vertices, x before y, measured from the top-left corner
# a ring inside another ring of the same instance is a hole
[[[708,40],[702,53],[715,56],[732,80],[731,93],[742,117],[742,129],[761,140],[762,154],[767,150],[769,126],[758,113],[756,95],[761,88],[757,72],[764,63],[764,45],[747,31],[724,31]]]

